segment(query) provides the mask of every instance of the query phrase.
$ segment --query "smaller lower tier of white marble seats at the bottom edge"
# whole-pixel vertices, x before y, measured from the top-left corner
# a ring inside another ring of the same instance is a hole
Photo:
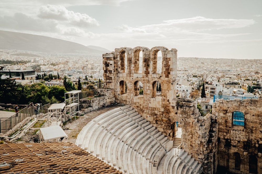
[[[175,154],[177,152],[177,154]],[[191,157],[184,149],[172,148],[160,161],[158,174],[199,174],[201,164]]]

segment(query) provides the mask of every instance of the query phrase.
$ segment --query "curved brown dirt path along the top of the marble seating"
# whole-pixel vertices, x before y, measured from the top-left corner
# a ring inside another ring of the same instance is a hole
[[[83,116],[79,116],[79,118],[72,121],[72,123],[67,122],[67,124],[63,127],[63,129],[67,134],[68,139],[63,140],[62,142],[71,142],[74,144],[75,140],[77,139],[77,135],[80,133],[83,127],[87,123],[89,123],[93,118],[120,106],[121,106],[120,104],[113,104],[106,107],[102,107],[98,110],[89,112]]]

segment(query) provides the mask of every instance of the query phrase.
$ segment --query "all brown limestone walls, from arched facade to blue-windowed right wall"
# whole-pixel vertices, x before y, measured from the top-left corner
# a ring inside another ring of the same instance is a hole
[[[161,73],[157,73],[159,51]],[[103,71],[105,88],[113,93],[108,101],[115,99],[132,106],[170,140],[176,135],[178,122],[182,127],[181,147],[202,163],[205,173],[216,173],[218,166],[234,173],[262,173],[261,100],[220,99],[213,104],[212,114],[201,116],[196,101],[176,98],[177,50],[161,46],[122,47],[103,54]],[[161,92],[157,91],[159,84]],[[233,125],[234,111],[244,113],[244,126]]]

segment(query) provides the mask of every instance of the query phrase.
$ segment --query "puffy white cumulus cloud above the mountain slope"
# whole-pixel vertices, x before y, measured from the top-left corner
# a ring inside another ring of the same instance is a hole
[[[64,21],[70,23],[71,25],[80,27],[99,26],[98,21],[87,14],[75,13],[74,11],[69,11],[60,5],[56,6],[48,4],[46,6],[42,6],[40,7],[37,16],[42,19]]]

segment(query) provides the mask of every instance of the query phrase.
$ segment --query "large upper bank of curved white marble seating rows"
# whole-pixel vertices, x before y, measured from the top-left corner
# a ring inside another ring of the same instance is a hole
[[[76,145],[123,173],[154,174],[173,141],[129,105],[113,109],[89,122]]]

